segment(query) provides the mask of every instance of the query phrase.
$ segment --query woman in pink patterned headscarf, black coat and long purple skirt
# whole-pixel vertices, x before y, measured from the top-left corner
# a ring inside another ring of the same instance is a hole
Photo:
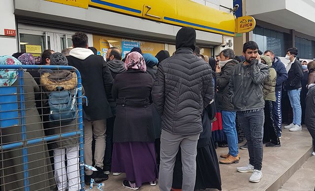
[[[125,61],[126,71],[117,74],[112,88],[116,100],[112,171],[125,172],[126,188],[137,190],[142,183],[157,185],[158,177],[153,116],[150,104],[153,79],[138,52]]]

